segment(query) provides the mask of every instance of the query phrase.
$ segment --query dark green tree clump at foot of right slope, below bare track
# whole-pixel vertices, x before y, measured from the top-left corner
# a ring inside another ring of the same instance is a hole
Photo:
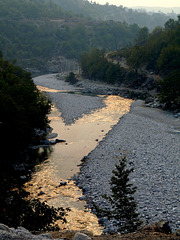
[[[108,56],[109,54],[96,48],[82,54],[80,59],[82,75],[90,80],[101,80],[119,86],[123,84],[130,88],[138,88],[142,85],[145,76],[124,69],[118,62],[113,63],[108,59]]]

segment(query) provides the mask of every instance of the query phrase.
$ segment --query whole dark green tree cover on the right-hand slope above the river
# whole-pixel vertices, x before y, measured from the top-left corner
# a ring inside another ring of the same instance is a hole
[[[92,49],[81,57],[83,75],[127,87],[155,88],[165,108],[180,108],[180,16],[170,19],[164,28],[156,27],[151,33],[140,28],[132,47],[105,54]],[[113,64],[113,61],[118,64]],[[126,66],[123,69],[121,63]],[[119,65],[120,63],[120,65]],[[152,75],[152,76],[151,76]],[[153,75],[157,78],[153,80]],[[157,79],[162,79],[157,80]],[[150,84],[148,83],[151,82]]]

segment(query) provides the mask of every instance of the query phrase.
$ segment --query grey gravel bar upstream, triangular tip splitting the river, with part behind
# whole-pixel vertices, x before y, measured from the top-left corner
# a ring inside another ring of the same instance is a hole
[[[49,74],[34,78],[36,85],[43,87],[63,90],[63,91],[79,91],[80,88],[70,85],[64,81],[64,75]],[[61,116],[64,122],[68,125],[74,123],[77,119],[81,118],[83,114],[90,113],[93,110],[103,108],[105,106],[101,97],[87,96],[81,94],[70,94],[65,92],[48,92],[47,95],[60,109]]]

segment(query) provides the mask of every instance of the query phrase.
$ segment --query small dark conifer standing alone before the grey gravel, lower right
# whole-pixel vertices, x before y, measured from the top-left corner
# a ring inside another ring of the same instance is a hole
[[[137,204],[134,200],[133,194],[136,192],[136,187],[129,183],[129,174],[133,168],[126,169],[126,157],[119,161],[119,165],[115,165],[111,177],[111,196],[105,198],[111,203],[113,210],[106,210],[109,219],[115,219],[118,222],[119,232],[134,232],[140,226],[137,213]]]

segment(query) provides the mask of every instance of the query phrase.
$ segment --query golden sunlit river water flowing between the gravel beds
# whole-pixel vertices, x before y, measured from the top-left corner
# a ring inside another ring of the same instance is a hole
[[[46,92],[59,91],[40,89]],[[25,184],[31,198],[47,201],[51,206],[71,208],[66,217],[67,224],[58,223],[61,229],[87,230],[94,235],[100,235],[103,229],[99,226],[97,217],[86,208],[86,201],[79,199],[83,194],[72,177],[80,171],[84,156],[96,148],[120,117],[129,112],[133,102],[119,96],[100,97],[105,102],[105,107],[85,114],[71,125],[66,125],[60,111],[52,107],[50,126],[58,134],[57,138],[66,142],[52,146],[49,158],[36,167],[31,181]],[[60,186],[62,182],[67,184]]]

